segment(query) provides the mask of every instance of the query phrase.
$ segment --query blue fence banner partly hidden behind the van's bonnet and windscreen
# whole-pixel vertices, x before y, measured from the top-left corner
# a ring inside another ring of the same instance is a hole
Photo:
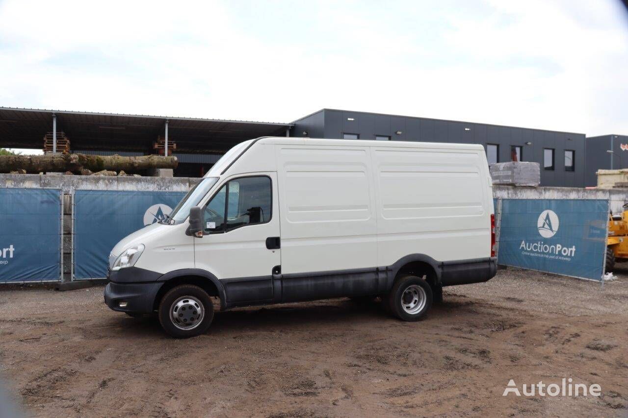
[[[170,214],[183,196],[182,191],[75,191],[73,278],[106,277],[114,245]]]

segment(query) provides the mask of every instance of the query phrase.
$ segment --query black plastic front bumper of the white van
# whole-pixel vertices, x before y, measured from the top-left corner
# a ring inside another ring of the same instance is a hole
[[[114,311],[131,313],[151,313],[157,292],[163,282],[116,283],[109,282],[105,287],[105,303]],[[126,302],[122,308],[121,302]]]

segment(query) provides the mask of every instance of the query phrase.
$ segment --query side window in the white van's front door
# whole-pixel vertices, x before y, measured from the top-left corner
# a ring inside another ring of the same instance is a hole
[[[270,178],[252,176],[230,180],[205,206],[205,233],[269,222],[272,210]]]

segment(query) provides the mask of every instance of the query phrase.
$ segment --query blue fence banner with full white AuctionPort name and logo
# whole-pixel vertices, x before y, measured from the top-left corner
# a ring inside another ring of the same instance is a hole
[[[502,200],[499,264],[602,280],[607,200]]]

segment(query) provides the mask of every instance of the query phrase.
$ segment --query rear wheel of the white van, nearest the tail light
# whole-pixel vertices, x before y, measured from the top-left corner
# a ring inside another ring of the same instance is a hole
[[[416,304],[414,303],[416,298]],[[421,277],[402,276],[393,285],[386,297],[387,310],[404,321],[419,321],[425,318],[433,301],[432,290],[428,282]],[[403,308],[403,305],[409,309]],[[416,312],[413,312],[416,309]]]

